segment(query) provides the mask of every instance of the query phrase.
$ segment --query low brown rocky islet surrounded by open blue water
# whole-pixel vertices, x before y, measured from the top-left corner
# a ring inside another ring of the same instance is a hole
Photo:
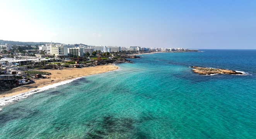
[[[245,75],[243,73],[239,73],[239,72],[236,72],[233,70],[203,68],[203,67],[198,67],[198,66],[191,66],[191,68],[195,68],[192,71],[194,71],[194,73],[199,73],[200,75],[211,75],[211,74]]]

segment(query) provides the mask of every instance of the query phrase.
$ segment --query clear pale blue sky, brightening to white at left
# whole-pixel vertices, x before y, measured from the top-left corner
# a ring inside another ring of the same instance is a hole
[[[256,0],[0,0],[0,39],[256,49]]]

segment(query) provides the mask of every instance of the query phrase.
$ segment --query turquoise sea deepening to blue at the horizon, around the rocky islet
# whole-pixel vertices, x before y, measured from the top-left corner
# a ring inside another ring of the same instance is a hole
[[[0,98],[0,139],[255,139],[256,50],[201,51],[142,54],[115,71]]]

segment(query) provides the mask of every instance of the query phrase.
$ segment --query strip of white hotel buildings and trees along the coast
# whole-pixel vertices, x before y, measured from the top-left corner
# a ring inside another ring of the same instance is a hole
[[[88,46],[85,44],[55,44],[46,43],[42,45],[15,45],[15,44],[1,44],[0,57],[2,58],[21,58],[20,56],[27,56],[27,58],[59,58],[63,60],[70,60],[70,58],[77,58],[83,56],[109,56],[116,54],[141,54],[150,52],[189,52],[198,51],[195,49],[183,48],[157,48],[157,47],[120,47],[120,46]],[[23,58],[23,57],[22,57]],[[4,59],[8,60],[8,59]],[[1,63],[2,65],[4,63]]]

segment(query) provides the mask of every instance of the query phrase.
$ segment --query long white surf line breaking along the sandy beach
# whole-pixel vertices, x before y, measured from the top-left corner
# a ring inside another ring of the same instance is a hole
[[[82,77],[84,77],[84,76],[82,76]],[[70,80],[61,81],[59,83],[55,83],[55,84],[52,84],[52,85],[47,85],[47,86],[43,86],[41,88],[33,89],[33,90],[28,91],[28,92],[19,93],[17,95],[12,95],[12,96],[7,96],[7,97],[0,98],[0,107],[3,107],[5,105],[9,105],[10,103],[17,102],[22,98],[27,98],[28,96],[30,96],[34,93],[43,92],[44,90],[49,90],[50,88],[55,88],[55,87],[60,86],[60,85],[65,85],[67,83],[71,83],[72,81],[75,81],[75,80],[80,79],[82,77],[77,77],[77,78],[73,78],[73,79],[70,79]]]

